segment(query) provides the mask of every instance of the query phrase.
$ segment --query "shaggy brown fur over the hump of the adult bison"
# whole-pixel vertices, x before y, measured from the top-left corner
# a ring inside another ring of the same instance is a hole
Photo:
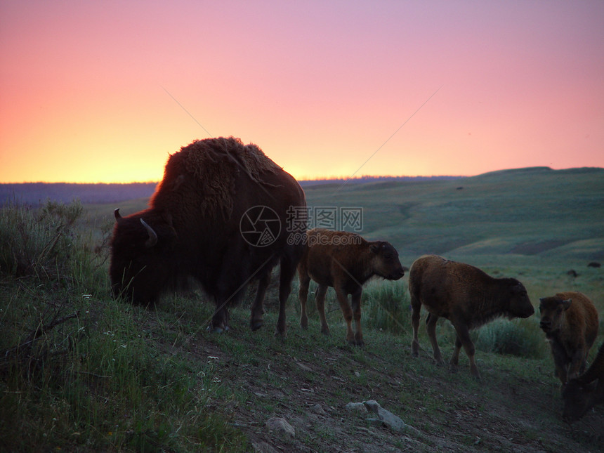
[[[241,173],[256,183],[268,185],[261,174],[278,173],[282,168],[266,157],[254,144],[244,145],[239,138],[209,138],[195,140],[170,156],[164,170],[164,179],[151,199],[151,206],[177,204],[183,193],[182,185],[189,186],[187,203],[194,202],[207,216],[223,218],[232,213],[235,180]],[[163,187],[169,185],[169,187]],[[197,200],[190,195],[197,194]]]

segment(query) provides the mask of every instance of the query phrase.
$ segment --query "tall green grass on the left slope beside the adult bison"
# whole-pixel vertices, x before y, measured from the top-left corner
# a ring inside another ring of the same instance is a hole
[[[82,213],[0,211],[0,450],[241,451],[208,407],[212,365],[162,350],[145,310],[107,297],[107,250],[81,236]]]

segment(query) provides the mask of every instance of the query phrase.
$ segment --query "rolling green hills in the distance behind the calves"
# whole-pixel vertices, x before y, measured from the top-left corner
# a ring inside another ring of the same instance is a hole
[[[457,180],[306,188],[312,206],[361,206],[362,234],[402,256],[604,260],[604,170],[545,168]]]

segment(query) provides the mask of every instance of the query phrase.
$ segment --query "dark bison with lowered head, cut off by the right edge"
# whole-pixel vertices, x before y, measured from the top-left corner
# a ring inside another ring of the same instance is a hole
[[[604,404],[604,343],[591,367],[576,379],[570,379],[564,386],[562,398],[562,417],[568,423],[579,420],[593,406]]]

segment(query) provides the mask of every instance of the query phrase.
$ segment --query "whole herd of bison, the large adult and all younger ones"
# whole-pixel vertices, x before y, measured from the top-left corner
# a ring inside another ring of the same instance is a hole
[[[253,212],[260,214],[250,218],[247,213],[258,206],[262,209]],[[229,328],[228,307],[242,298],[251,280],[257,280],[250,318],[251,329],[256,330],[263,325],[271,271],[279,264],[277,334],[285,333],[286,301],[297,270],[301,327],[308,326],[306,300],[313,280],[318,284],[315,302],[321,331],[329,334],[324,297],[332,287],[346,321],[347,341],[362,346],[363,284],[373,276],[400,279],[405,268],[398,252],[389,242],[370,242],[352,232],[307,231],[306,218],[300,216],[303,212],[306,197],[298,182],[256,145],[244,145],[232,137],[195,140],[169,157],[147,209],[126,217],[115,210],[112,293],[146,306],[162,293],[183,289],[196,280],[216,303],[209,329],[221,332]],[[249,223],[246,237],[243,219]],[[249,235],[254,232],[265,240],[251,242]],[[480,372],[469,331],[496,317],[525,318],[534,313],[518,280],[490,277],[471,265],[435,255],[421,256],[412,264],[409,294],[412,354],[419,353],[419,318],[424,306],[436,362],[444,364],[435,334],[438,318],[444,317],[457,333],[450,366],[457,367],[463,347],[476,378]],[[540,327],[551,345],[562,385],[563,419],[572,422],[604,402],[604,345],[586,370],[586,358],[598,334],[598,312],[578,292],[541,298],[539,311]]]

